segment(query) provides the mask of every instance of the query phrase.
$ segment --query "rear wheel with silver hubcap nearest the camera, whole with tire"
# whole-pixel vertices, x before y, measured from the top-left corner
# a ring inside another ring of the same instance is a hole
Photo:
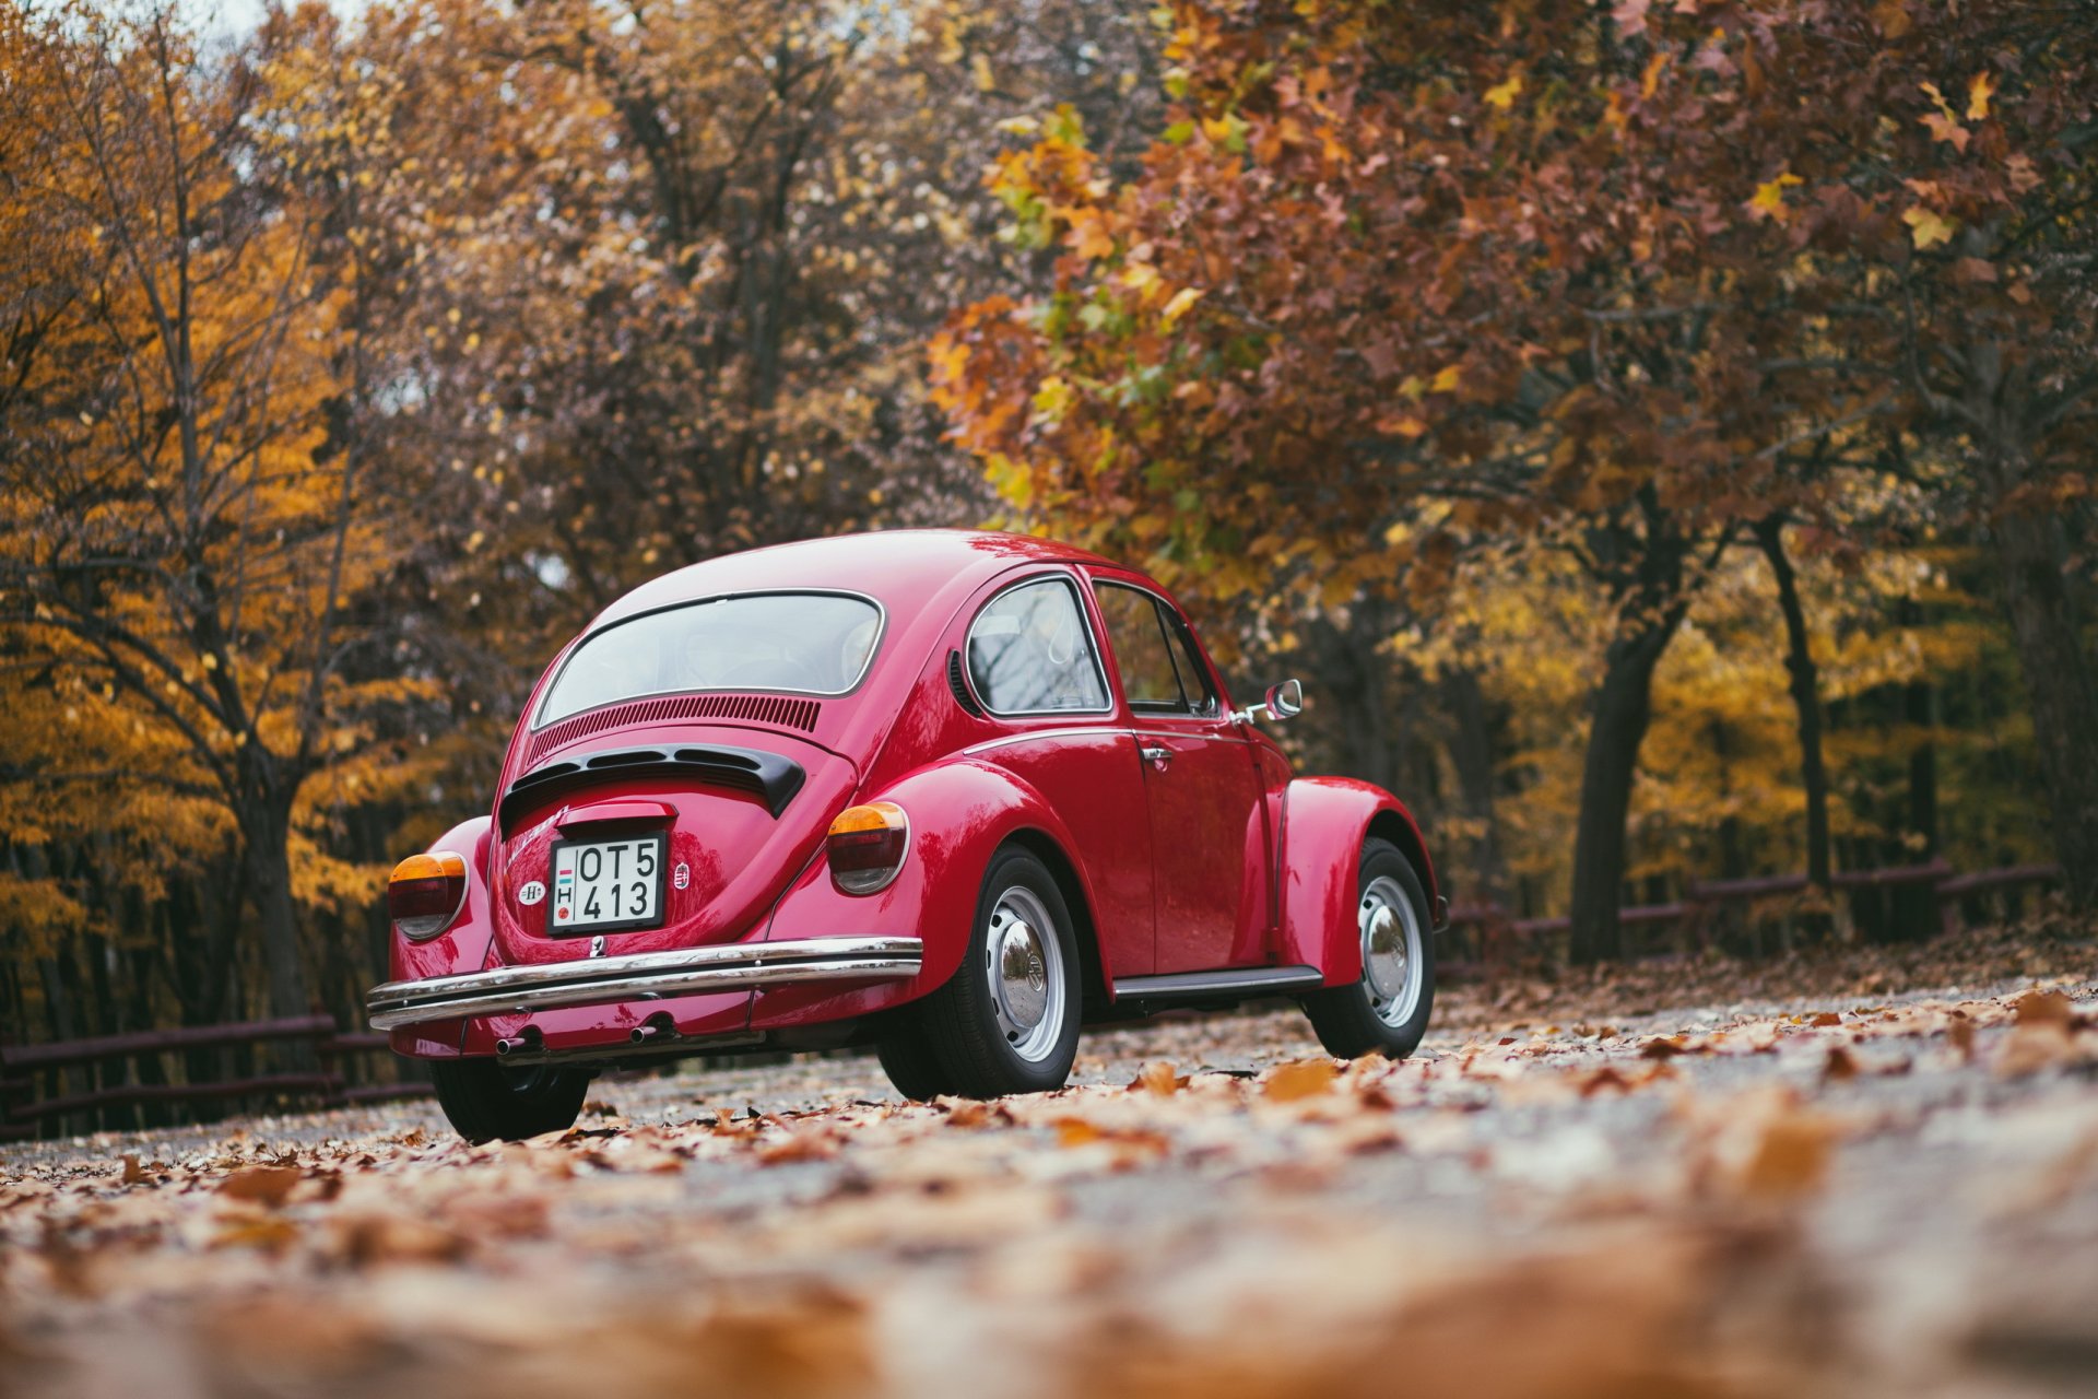
[[[1015,845],[992,856],[961,967],[919,1005],[940,1086],[963,1097],[1064,1086],[1078,1057],[1078,940],[1049,866]]]

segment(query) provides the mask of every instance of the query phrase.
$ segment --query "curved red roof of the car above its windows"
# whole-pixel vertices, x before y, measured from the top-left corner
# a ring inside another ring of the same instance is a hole
[[[866,594],[885,608],[915,608],[955,583],[976,583],[1018,564],[1106,564],[1068,543],[967,529],[890,529],[827,535],[722,554],[650,579],[604,608],[590,631],[663,606],[724,594],[778,589],[841,589]]]

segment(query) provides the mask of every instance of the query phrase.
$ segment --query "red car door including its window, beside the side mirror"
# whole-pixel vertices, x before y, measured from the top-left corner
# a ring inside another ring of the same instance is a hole
[[[1143,759],[1154,963],[1160,975],[1238,965],[1265,933],[1267,828],[1253,747],[1171,602],[1097,575],[1093,596]]]

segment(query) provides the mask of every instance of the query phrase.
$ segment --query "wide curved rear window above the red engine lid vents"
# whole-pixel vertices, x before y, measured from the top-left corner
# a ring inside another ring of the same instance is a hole
[[[575,648],[533,728],[676,690],[843,694],[860,684],[881,610],[843,594],[709,598],[606,627]]]

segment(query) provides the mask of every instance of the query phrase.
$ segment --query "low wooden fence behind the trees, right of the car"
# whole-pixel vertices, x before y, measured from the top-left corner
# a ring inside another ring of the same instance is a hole
[[[2060,877],[2058,864],[2014,864],[1960,875],[1943,860],[1934,860],[1886,870],[1842,870],[1834,877],[1834,885],[1838,894],[1924,889],[1936,910],[1936,925],[1930,931],[1947,933],[1978,908],[2033,885],[2058,883]],[[1626,942],[1651,944],[1662,931],[1676,944],[1674,950],[1704,950],[1722,933],[1739,931],[1752,942],[1750,950],[1760,954],[1762,925],[1752,917],[1754,906],[1764,900],[1792,900],[1804,891],[1806,875],[1701,879],[1672,904],[1620,908],[1618,923],[1626,929]],[[1842,919],[1844,910],[1838,908],[1834,917]],[[1798,908],[1787,906],[1777,912],[1775,935],[1781,948],[1792,946],[1798,921]],[[1571,921],[1563,917],[1511,919],[1492,904],[1458,906],[1450,910],[1450,929],[1460,946],[1452,948],[1448,959],[1439,959],[1439,967],[1454,975],[1494,975],[1523,956],[1544,954],[1569,927]]]

